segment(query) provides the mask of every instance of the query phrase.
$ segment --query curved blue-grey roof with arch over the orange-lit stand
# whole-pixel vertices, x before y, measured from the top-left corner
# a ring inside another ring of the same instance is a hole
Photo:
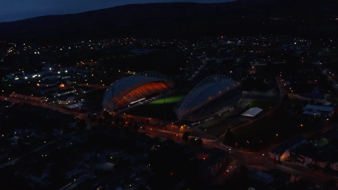
[[[140,72],[129,77],[121,78],[107,88],[106,92],[103,95],[102,106],[104,109],[108,110],[109,103],[113,103],[113,105],[115,105],[124,96],[137,89],[138,87],[141,87],[150,82],[161,81],[166,82],[168,86],[173,87],[173,81],[169,77],[155,71]],[[111,111],[114,111],[114,109],[115,108],[113,108],[113,110]]]

